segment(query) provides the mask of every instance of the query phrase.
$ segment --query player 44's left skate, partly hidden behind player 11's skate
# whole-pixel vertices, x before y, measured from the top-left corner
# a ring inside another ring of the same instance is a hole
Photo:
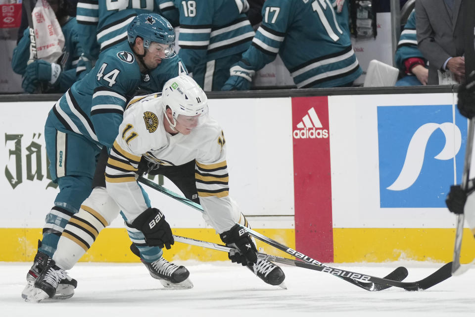
[[[41,247],[41,241],[38,240],[38,248]],[[29,297],[31,292],[35,288],[34,284],[37,280],[38,276],[40,276],[41,272],[47,265],[47,262],[50,258],[47,254],[38,251],[35,255],[35,259],[33,260],[33,265],[31,266],[30,270],[26,274],[26,286],[21,292],[21,297],[25,301],[29,301]],[[74,295],[74,289],[78,286],[78,282],[72,278],[71,280],[65,279],[62,280],[57,287],[56,294],[52,297],[52,299],[68,299]]]

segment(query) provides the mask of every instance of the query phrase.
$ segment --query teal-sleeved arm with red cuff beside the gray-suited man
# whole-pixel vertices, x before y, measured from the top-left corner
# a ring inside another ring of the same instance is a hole
[[[404,25],[401,37],[397,44],[394,56],[396,66],[407,76],[399,79],[396,86],[420,86],[427,85],[428,69],[427,60],[417,47],[416,34],[416,11],[411,14]]]

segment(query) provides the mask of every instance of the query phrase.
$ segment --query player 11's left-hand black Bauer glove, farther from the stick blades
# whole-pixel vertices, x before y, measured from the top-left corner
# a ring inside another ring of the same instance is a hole
[[[170,225],[165,221],[163,213],[156,208],[150,207],[143,211],[131,226],[142,231],[145,242],[150,247],[159,246],[163,249],[165,246],[170,249],[170,245],[175,243]]]

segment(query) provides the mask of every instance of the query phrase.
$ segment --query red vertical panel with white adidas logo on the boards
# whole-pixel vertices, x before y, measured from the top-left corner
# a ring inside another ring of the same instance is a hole
[[[296,249],[333,262],[328,97],[292,98]]]

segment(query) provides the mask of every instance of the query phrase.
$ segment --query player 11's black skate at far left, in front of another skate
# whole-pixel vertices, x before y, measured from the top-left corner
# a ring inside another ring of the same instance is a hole
[[[39,302],[47,298],[52,298],[56,294],[59,285],[66,281],[69,285],[74,284],[72,278],[68,276],[66,271],[56,266],[52,259],[49,259],[47,265],[43,267],[42,272],[36,279],[35,287],[28,300]]]

